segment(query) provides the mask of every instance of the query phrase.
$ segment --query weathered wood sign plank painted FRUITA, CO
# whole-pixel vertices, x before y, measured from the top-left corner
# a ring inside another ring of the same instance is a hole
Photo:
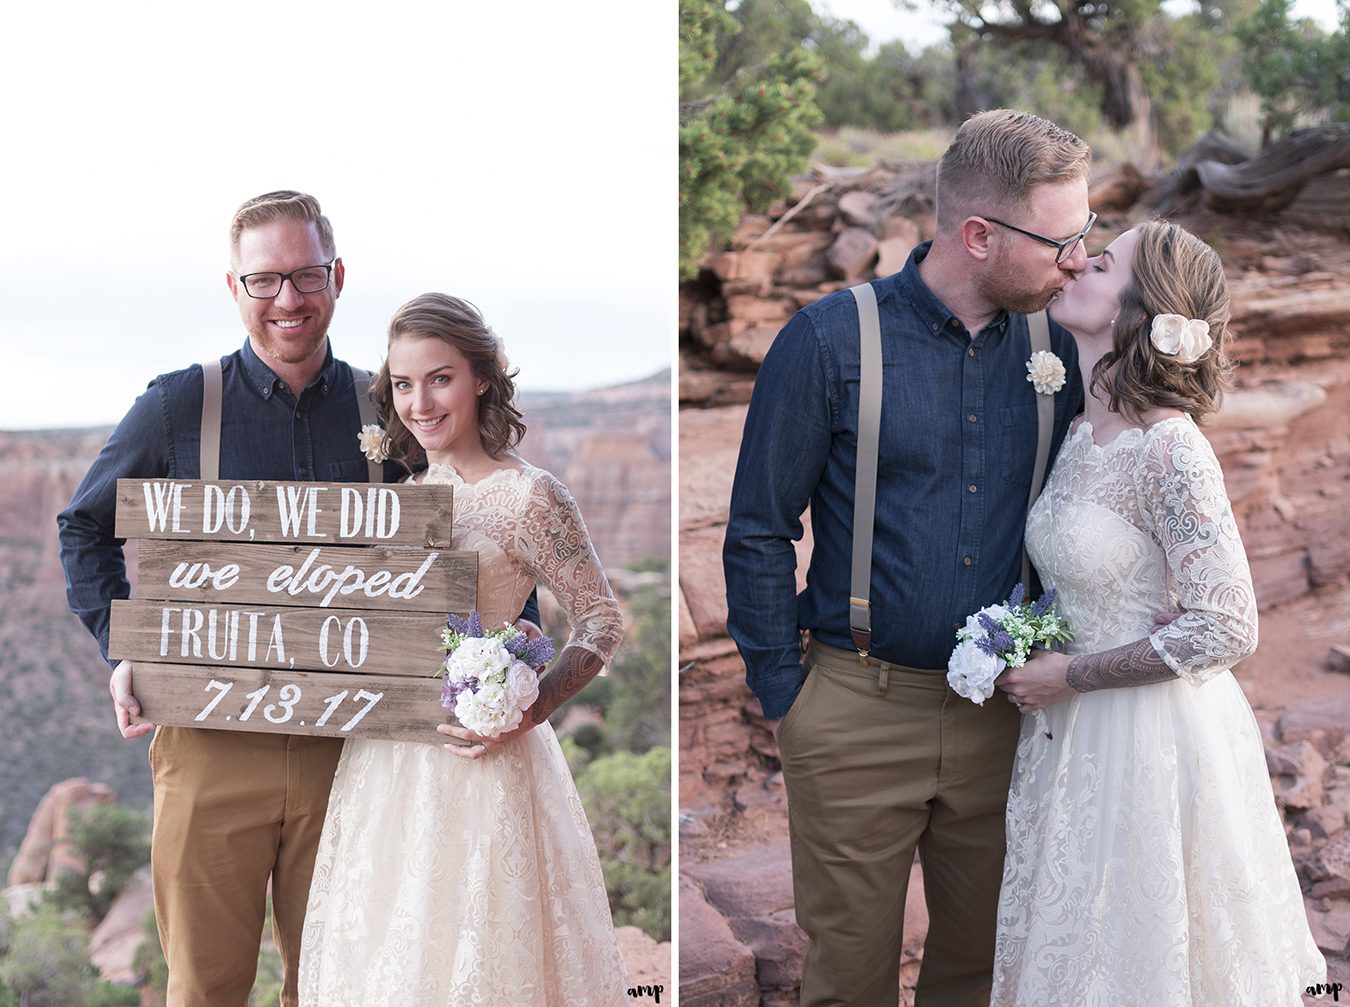
[[[459,614],[466,614],[460,611]],[[441,611],[362,611],[115,601],[117,660],[360,675],[428,675],[444,660]]]

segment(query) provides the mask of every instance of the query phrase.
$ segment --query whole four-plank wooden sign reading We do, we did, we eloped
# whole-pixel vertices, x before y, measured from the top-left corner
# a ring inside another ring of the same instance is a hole
[[[119,479],[142,539],[112,603],[135,722],[444,741],[447,613],[477,605],[478,555],[447,548],[450,486]]]

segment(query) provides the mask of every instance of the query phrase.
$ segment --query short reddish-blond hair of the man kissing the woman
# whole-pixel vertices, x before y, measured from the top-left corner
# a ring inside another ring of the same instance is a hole
[[[1084,178],[1091,166],[1088,144],[1048,119],[1011,108],[977,112],[938,161],[937,225],[1025,208],[1038,185]]]

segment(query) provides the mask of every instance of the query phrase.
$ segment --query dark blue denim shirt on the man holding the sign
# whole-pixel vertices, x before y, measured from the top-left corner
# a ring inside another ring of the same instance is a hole
[[[246,342],[221,359],[220,478],[366,482],[351,367],[332,355],[292,393]],[[385,481],[402,470],[385,463]],[[161,374],[108,437],[57,516],[70,610],[108,656],[109,605],[127,598],[124,539],[113,536],[117,479],[201,478],[201,364]]]

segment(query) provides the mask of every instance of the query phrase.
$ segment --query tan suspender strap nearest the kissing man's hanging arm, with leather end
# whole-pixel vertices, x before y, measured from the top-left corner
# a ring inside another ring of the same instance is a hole
[[[859,283],[857,301],[857,463],[853,481],[853,574],[849,580],[848,625],[853,645],[865,659],[872,648],[872,524],[876,516],[876,451],[882,440],[882,323],[876,292]]]

